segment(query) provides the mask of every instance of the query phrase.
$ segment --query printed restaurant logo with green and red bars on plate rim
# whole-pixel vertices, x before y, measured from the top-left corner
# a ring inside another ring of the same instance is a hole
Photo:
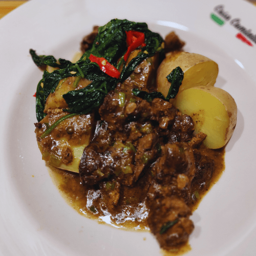
[[[251,29],[247,29],[241,25],[240,18],[231,19],[231,15],[224,10],[224,5],[218,5],[214,8],[214,12],[210,14],[210,18],[217,23],[219,26],[224,26],[225,23],[229,22],[229,25],[234,27],[240,32],[235,32],[236,38],[244,42],[248,46],[253,46],[252,42],[256,43],[256,34],[253,34]],[[217,14],[216,14],[217,13]]]

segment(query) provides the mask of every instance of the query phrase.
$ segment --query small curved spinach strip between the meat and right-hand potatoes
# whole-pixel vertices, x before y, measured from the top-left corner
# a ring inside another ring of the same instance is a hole
[[[160,92],[148,93],[145,91],[140,91],[139,89],[133,89],[133,94],[142,99],[145,99],[148,102],[151,102],[155,98],[160,98],[160,99],[169,101],[170,99],[175,98],[176,95],[178,94],[183,77],[184,77],[184,73],[180,67],[177,67],[169,75],[167,75],[166,78],[171,83],[171,85],[166,98]]]

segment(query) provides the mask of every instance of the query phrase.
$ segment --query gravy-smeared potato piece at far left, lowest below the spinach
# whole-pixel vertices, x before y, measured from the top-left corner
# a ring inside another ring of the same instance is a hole
[[[78,173],[83,149],[92,137],[94,114],[66,118],[45,135],[48,127],[66,115],[67,112],[61,109],[49,110],[46,117],[36,123],[36,139],[43,160],[55,167]]]

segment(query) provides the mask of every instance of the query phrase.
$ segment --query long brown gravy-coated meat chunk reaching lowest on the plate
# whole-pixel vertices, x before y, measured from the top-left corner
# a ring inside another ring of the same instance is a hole
[[[148,225],[164,249],[186,243],[194,229],[188,202],[195,169],[193,151],[179,142],[163,146],[152,168]]]

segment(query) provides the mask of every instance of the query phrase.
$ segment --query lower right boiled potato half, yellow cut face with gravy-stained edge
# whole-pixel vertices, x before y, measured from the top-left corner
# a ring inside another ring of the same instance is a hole
[[[237,123],[237,104],[229,93],[216,87],[193,87],[179,93],[174,104],[183,114],[191,116],[195,133],[207,135],[209,148],[223,147]]]

